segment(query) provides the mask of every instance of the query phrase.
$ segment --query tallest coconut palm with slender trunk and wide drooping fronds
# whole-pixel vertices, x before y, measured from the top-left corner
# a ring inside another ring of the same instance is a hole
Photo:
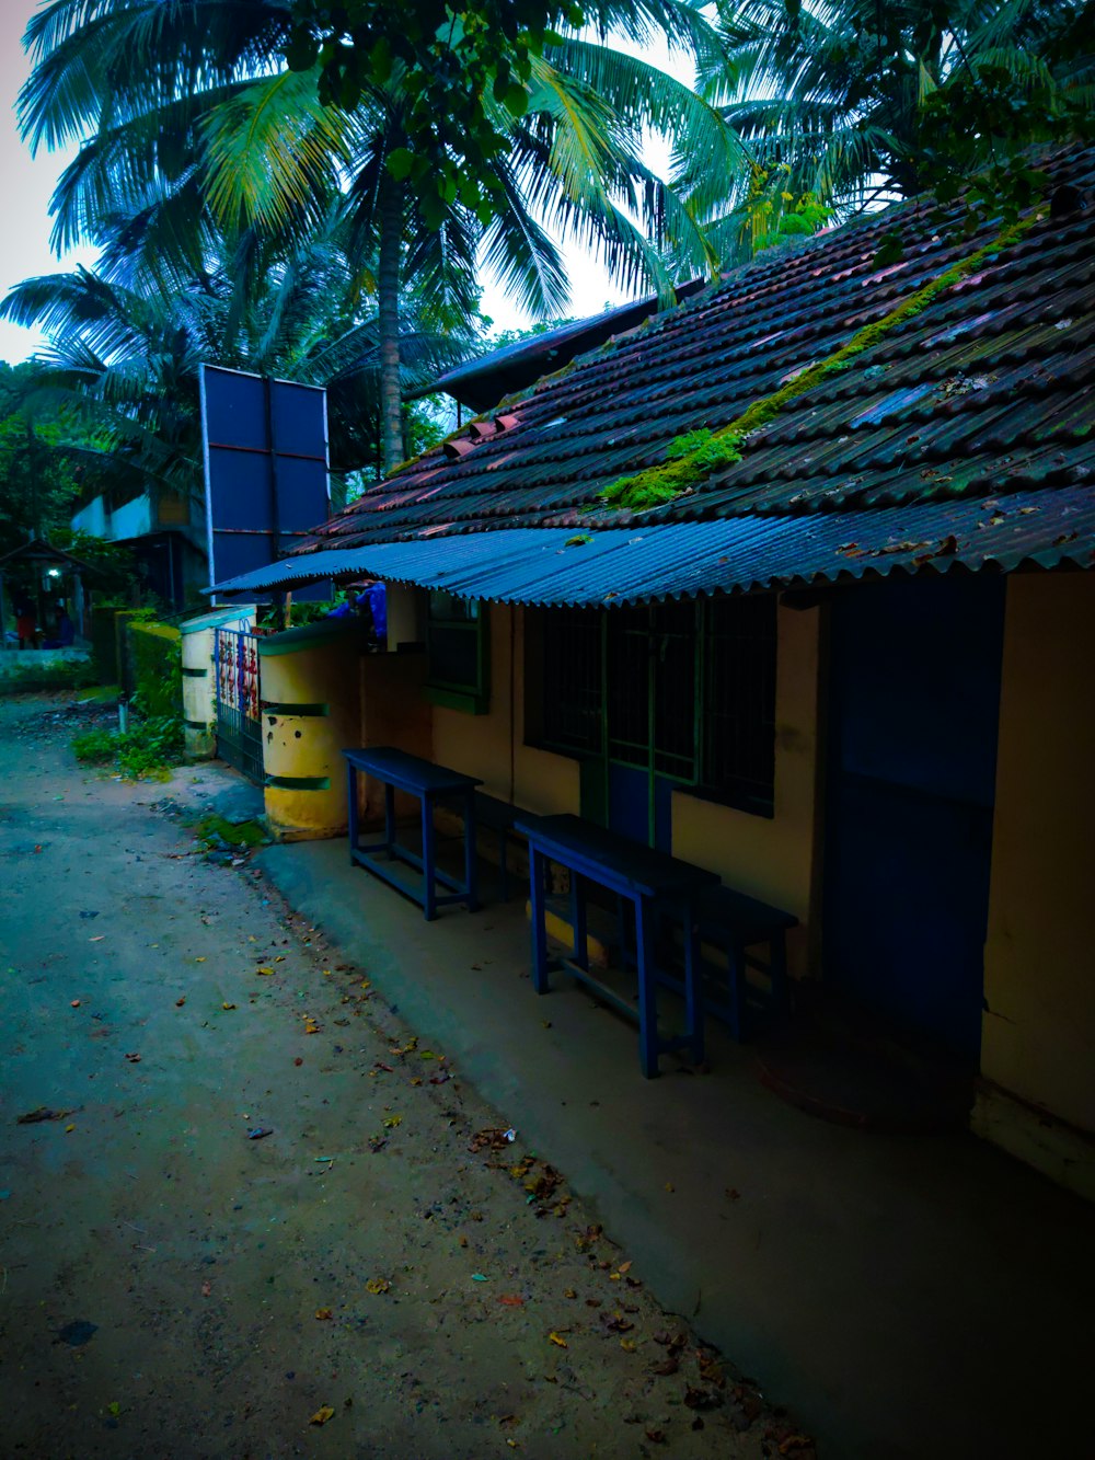
[[[672,25],[712,45],[692,0],[622,0],[607,22]],[[403,457],[400,359],[404,282],[451,314],[476,296],[477,250],[530,312],[565,307],[558,248],[542,216],[594,242],[618,277],[653,282],[711,272],[715,257],[692,210],[639,161],[644,127],[666,130],[729,180],[739,153],[717,110],[642,61],[580,36],[533,66],[495,166],[501,203],[483,228],[458,190],[423,206],[409,181],[406,93],[399,67],[352,111],[323,107],[315,73],[279,60],[289,0],[54,0],[28,28],[36,60],[20,99],[32,146],[85,137],[54,199],[57,244],[95,235],[123,204],[108,276],[139,264],[169,288],[196,277],[219,229],[285,247],[340,207],[355,250],[375,257],[383,457]],[[729,185],[729,181],[724,184]],[[638,222],[635,222],[638,219]]]

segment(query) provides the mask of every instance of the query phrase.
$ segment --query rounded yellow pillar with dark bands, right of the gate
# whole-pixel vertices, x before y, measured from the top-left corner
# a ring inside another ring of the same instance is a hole
[[[346,831],[346,762],[361,745],[361,623],[326,619],[258,641],[266,818],[286,840]]]

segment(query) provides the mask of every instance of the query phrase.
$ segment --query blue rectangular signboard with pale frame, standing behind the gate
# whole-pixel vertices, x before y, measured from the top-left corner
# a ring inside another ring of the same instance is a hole
[[[209,581],[266,568],[330,515],[327,393],[203,365]],[[328,599],[330,583],[295,590]]]

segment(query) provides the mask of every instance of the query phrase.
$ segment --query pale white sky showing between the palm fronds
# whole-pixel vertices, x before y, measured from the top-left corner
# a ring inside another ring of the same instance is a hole
[[[19,137],[15,104],[19,88],[29,72],[29,61],[22,48],[26,23],[38,9],[38,0],[0,0],[0,181],[7,218],[0,228],[0,298],[23,279],[35,274],[55,273],[73,269],[76,264],[92,267],[95,250],[77,248],[63,258],[50,248],[50,197],[57,178],[74,155],[69,152],[39,150],[31,158],[29,149]],[[673,63],[669,53],[645,53],[647,58],[666,70],[682,73],[680,63]],[[650,166],[660,169],[664,156],[650,149]],[[600,263],[580,248],[565,250],[571,279],[569,314],[581,318],[600,312],[606,305],[620,304],[626,295],[610,280]],[[483,312],[499,330],[521,328],[531,321],[507,299],[505,293],[491,279],[483,279]],[[0,361],[15,364],[26,359],[45,343],[36,330],[0,321]]]

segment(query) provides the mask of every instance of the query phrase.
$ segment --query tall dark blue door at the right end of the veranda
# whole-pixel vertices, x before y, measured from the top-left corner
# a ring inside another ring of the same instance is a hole
[[[1003,602],[950,572],[851,588],[831,618],[825,977],[971,1063]]]

